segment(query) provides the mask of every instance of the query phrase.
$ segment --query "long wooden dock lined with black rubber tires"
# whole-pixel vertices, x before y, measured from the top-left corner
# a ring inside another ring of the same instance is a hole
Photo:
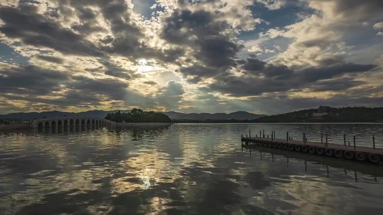
[[[370,161],[383,165],[383,148],[358,147],[352,145],[331,144],[326,142],[303,142],[297,140],[242,137],[242,144],[258,145],[259,147],[280,148],[281,150],[294,150],[302,153],[327,155],[358,161]]]

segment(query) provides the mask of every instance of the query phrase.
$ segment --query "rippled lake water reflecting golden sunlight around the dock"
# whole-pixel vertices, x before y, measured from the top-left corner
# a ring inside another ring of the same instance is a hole
[[[382,124],[0,131],[0,214],[383,214],[383,166],[242,149],[250,129],[383,143]]]

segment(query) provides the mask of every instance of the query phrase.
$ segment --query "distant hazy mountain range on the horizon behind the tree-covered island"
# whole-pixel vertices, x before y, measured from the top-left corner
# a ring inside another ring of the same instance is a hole
[[[84,111],[84,112],[62,112],[62,111],[45,111],[45,112],[19,112],[19,113],[10,113],[10,114],[3,114],[0,115],[0,119],[34,119],[35,117],[41,118],[41,117],[57,117],[57,116],[87,116],[87,117],[99,117],[104,118],[109,113],[115,113],[117,111],[121,112],[130,112],[131,110],[113,110],[113,111],[102,111],[102,110],[93,110],[93,111]],[[170,119],[192,119],[192,120],[206,120],[206,119],[213,119],[213,120],[229,120],[229,119],[236,119],[236,120],[252,120],[257,119],[259,117],[263,117],[266,115],[263,114],[252,114],[246,111],[237,111],[232,112],[229,114],[226,113],[181,113],[181,112],[162,112],[170,117]]]

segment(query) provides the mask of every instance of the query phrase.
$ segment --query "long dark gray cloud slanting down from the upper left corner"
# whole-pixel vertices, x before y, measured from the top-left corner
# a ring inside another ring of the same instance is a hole
[[[49,47],[64,54],[103,55],[82,35],[38,14],[33,4],[21,3],[19,8],[0,7],[0,19],[4,22],[1,32],[7,37],[20,38],[25,44]]]

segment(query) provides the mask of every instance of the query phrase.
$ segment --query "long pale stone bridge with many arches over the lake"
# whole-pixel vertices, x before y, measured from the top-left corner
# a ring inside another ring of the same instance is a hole
[[[71,126],[107,126],[116,125],[116,122],[95,117],[58,117],[36,119],[32,123],[33,128],[47,127],[71,127]]]

